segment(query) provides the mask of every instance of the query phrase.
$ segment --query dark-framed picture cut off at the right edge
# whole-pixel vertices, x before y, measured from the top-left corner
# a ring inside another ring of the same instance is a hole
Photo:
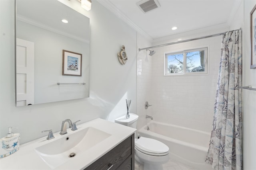
[[[256,68],[256,5],[250,12],[250,49],[251,49],[251,62],[250,68]]]

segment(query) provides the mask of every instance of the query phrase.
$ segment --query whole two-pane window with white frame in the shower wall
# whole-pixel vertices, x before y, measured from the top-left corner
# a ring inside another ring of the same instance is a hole
[[[165,54],[165,75],[206,73],[207,48]]]

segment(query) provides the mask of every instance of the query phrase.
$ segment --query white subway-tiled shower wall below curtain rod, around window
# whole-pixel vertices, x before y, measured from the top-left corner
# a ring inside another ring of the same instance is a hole
[[[137,70],[137,101],[142,103],[146,98],[152,106],[141,111],[137,105],[137,110],[152,115],[156,121],[210,132],[220,45],[221,37],[218,36],[158,47],[152,57],[138,53],[137,69],[142,67],[142,70],[140,73]],[[164,53],[201,47],[208,47],[208,74],[164,76]]]

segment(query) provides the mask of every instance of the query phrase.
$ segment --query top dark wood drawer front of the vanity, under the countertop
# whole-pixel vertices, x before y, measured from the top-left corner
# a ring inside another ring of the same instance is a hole
[[[120,165],[132,155],[132,140],[134,141],[134,138],[132,138],[133,136],[134,134],[114,147],[108,153],[104,154],[101,158],[85,168],[85,170],[107,170],[112,165],[113,166],[110,170],[115,170],[120,167]]]

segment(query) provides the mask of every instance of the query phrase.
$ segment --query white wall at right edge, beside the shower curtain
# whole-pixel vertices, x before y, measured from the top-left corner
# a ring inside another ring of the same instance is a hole
[[[250,12],[256,5],[255,0],[244,0],[240,12],[244,12],[243,22],[234,18],[234,22],[244,24],[242,30],[242,85],[256,88],[256,69],[250,69]],[[238,15],[239,15],[238,13]],[[244,170],[256,169],[256,91],[243,90],[243,168]]]

